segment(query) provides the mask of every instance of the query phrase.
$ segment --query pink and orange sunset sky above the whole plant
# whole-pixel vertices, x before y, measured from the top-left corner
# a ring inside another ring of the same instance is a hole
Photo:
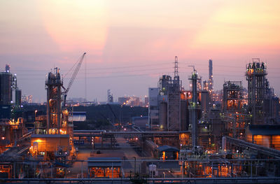
[[[66,74],[86,59],[69,97],[106,101],[144,97],[162,74],[173,76],[174,57],[188,89],[195,65],[207,80],[213,59],[214,90],[224,80],[242,80],[246,63],[260,57],[280,95],[280,1],[0,0],[0,70],[10,64],[22,94],[45,101],[45,75]],[[64,85],[71,75],[64,76]]]

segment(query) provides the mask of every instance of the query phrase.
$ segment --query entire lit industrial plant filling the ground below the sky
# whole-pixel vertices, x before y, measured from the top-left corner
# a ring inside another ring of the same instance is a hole
[[[58,67],[47,73],[38,106],[22,103],[31,97],[10,66],[0,73],[0,183],[280,183],[280,102],[261,59],[246,64],[247,83],[215,90],[214,60],[202,80],[195,65],[179,76],[176,56],[144,105],[111,90],[104,104],[73,104],[85,55],[67,84]]]

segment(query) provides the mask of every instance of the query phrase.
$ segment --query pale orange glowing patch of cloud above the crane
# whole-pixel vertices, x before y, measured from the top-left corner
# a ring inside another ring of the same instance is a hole
[[[62,52],[102,54],[107,17],[103,1],[40,1],[43,25]]]

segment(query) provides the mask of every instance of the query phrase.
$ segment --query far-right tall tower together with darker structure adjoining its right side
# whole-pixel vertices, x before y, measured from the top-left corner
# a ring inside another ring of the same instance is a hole
[[[277,124],[279,121],[279,98],[274,96],[266,76],[267,66],[260,59],[253,58],[253,62],[247,64],[248,111],[252,125]]]

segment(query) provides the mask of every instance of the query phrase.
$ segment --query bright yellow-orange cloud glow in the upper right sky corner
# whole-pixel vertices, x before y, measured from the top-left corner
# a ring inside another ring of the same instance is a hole
[[[193,48],[244,52],[244,48],[279,47],[279,6],[280,1],[228,1],[197,34]]]

